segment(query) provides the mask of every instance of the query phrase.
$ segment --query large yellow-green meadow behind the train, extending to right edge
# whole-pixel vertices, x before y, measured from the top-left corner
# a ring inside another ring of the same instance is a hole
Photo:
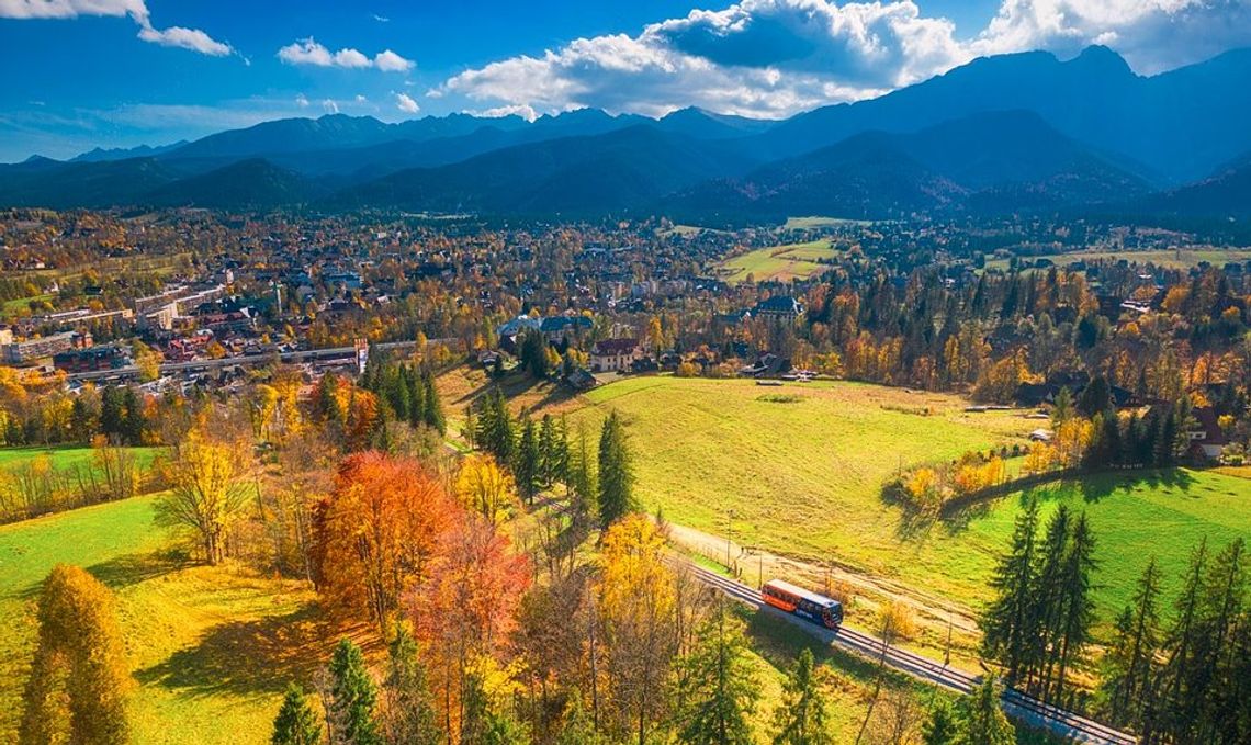
[[[575,415],[594,425],[609,409],[626,420],[637,492],[679,525],[813,562],[831,562],[931,598],[976,609],[1006,548],[1022,495],[937,520],[879,495],[908,464],[1021,441],[1035,429],[1016,412],[966,414],[958,396],[853,382],[778,389],[742,380],[637,378],[590,391]],[[917,411],[928,409],[929,415]],[[1105,620],[1123,604],[1150,552],[1168,586],[1191,546],[1251,538],[1251,481],[1177,470],[1043,488],[1046,511],[1068,502],[1100,539],[1096,600]]]

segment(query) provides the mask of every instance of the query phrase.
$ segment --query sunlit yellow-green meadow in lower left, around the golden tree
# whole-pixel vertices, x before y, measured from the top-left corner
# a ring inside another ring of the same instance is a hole
[[[153,526],[154,498],[0,528],[0,742],[13,741],[39,582],[78,564],[118,595],[139,689],[134,741],[269,741],[283,688],[305,682],[337,635],[303,584],[184,562]]]

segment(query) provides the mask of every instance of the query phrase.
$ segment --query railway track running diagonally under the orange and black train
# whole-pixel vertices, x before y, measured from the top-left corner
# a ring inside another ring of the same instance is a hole
[[[762,612],[769,612],[779,619],[793,622],[827,644],[838,645],[874,660],[884,659],[884,662],[896,670],[961,694],[971,692],[982,681],[982,676],[980,675],[970,675],[963,670],[943,665],[916,652],[889,646],[871,634],[846,626],[838,631],[833,631],[798,616],[782,612],[762,602],[759,592],[753,588],[702,566],[693,564],[689,566],[694,576],[703,584],[721,590],[734,600],[759,609]],[[1003,691],[1003,708],[1015,719],[1023,720],[1032,726],[1047,729],[1077,742],[1096,742],[1101,745],[1135,745],[1137,742],[1133,735],[1115,730],[1058,706],[1052,706],[1015,689],[1006,689]]]

